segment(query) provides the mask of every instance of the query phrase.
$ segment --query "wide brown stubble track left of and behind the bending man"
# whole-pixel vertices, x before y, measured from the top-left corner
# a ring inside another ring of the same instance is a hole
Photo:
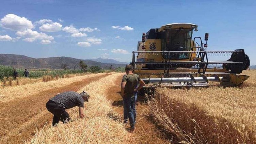
[[[106,75],[85,78],[60,88],[53,88],[34,95],[8,102],[0,102],[0,143],[17,144],[34,136],[36,127],[42,129],[51,123],[52,114],[45,104],[56,93],[78,91],[85,85]],[[17,92],[18,94],[18,92]]]

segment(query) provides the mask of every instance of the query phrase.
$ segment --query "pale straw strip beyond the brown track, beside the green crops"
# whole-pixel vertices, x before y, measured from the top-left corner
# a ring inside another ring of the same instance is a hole
[[[63,79],[58,79],[56,81],[49,81],[49,82],[42,82],[41,80],[40,82],[36,82],[33,84],[24,84],[19,86],[16,85],[16,86],[5,87],[3,89],[0,89],[0,102],[7,102],[17,98],[23,98],[28,95],[36,94],[40,91],[45,91],[52,88],[59,88],[74,82],[81,81],[81,79],[90,78],[94,76],[101,76],[105,74],[106,73],[75,76],[72,78],[63,78]],[[19,83],[22,83],[25,80],[30,81],[32,79],[24,78],[23,80],[19,78]]]

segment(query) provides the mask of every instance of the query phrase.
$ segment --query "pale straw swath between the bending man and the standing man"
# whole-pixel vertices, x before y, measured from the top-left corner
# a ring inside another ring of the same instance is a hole
[[[107,76],[79,90],[86,90],[91,95],[89,102],[85,102],[86,118],[76,118],[74,122],[59,124],[57,127],[45,127],[43,131],[37,131],[35,138],[28,143],[130,143],[130,134],[123,124],[111,118],[115,114],[106,99],[107,89],[114,85],[113,80],[119,75]],[[78,116],[78,108],[69,109],[68,112],[73,119]]]

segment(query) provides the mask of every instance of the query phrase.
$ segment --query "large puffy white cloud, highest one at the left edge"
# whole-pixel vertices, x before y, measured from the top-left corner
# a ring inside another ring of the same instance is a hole
[[[0,21],[0,26],[12,31],[21,31],[34,28],[34,25],[30,20],[25,17],[19,17],[15,14],[5,15]]]

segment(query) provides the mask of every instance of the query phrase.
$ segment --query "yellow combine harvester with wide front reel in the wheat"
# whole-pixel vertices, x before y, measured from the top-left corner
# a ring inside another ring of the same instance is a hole
[[[235,51],[205,51],[208,33],[192,39],[197,25],[173,23],[142,33],[131,65],[134,73],[148,84],[169,86],[207,86],[218,81],[224,86],[238,86],[249,76],[238,75],[250,66],[243,49]],[[209,61],[209,55],[230,55],[227,61]]]

